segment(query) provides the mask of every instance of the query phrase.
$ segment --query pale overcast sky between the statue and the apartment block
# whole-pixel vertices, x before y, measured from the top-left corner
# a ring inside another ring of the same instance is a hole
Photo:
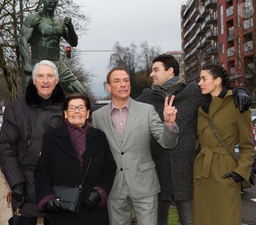
[[[91,17],[87,35],[79,38],[80,50],[113,50],[131,42],[147,41],[162,53],[181,50],[181,5],[185,0],[74,0]],[[82,62],[95,74],[92,91],[103,97],[109,52],[83,53]]]

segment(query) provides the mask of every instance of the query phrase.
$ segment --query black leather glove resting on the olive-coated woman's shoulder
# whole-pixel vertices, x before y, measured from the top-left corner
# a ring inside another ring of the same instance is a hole
[[[233,89],[233,96],[235,101],[235,106],[238,107],[241,113],[247,111],[251,105],[251,98],[248,90],[243,87],[237,87]]]

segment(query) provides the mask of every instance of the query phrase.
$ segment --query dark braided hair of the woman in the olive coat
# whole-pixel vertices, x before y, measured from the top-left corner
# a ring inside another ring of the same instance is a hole
[[[226,86],[227,89],[233,90],[233,86],[230,82],[229,75],[224,67],[218,64],[210,64],[202,68],[202,70],[207,70],[212,75],[214,79],[220,77],[222,81],[222,87]]]

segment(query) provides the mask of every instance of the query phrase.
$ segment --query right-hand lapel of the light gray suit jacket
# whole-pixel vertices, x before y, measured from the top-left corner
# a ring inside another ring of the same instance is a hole
[[[132,98],[130,98],[130,101],[131,102],[130,102],[129,112],[128,112],[128,116],[127,116],[127,120],[126,120],[126,124],[125,124],[125,128],[124,128],[124,134],[123,134],[124,137],[123,137],[122,148],[132,130],[132,127],[133,127],[133,124],[134,124],[134,121],[136,119],[138,109],[139,109],[139,105],[136,104],[136,101],[134,101]]]

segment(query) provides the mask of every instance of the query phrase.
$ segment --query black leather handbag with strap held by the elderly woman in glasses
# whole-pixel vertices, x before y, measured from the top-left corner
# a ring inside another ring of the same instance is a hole
[[[83,181],[87,176],[89,167],[91,163],[91,158],[88,162],[83,180],[79,186],[72,185],[53,185],[53,193],[55,195],[56,202],[58,203],[57,208],[61,212],[67,213],[79,213],[79,207],[81,202],[81,195],[83,190]]]

